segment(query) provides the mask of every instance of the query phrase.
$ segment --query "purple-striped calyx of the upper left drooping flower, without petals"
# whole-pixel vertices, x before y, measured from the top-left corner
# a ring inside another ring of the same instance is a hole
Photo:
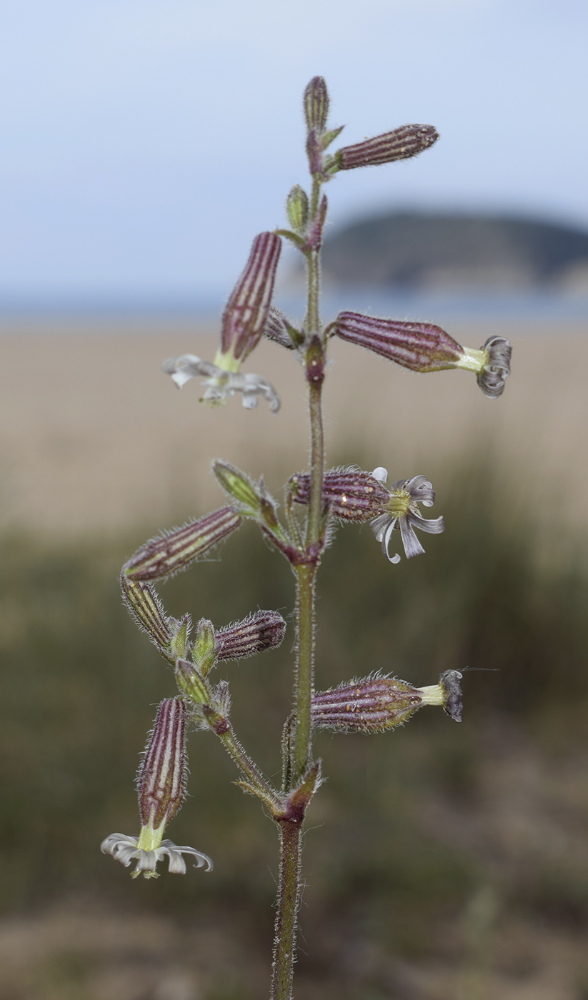
[[[275,233],[260,233],[253,241],[249,260],[223,313],[221,349],[214,363],[237,372],[263,336],[282,241]]]

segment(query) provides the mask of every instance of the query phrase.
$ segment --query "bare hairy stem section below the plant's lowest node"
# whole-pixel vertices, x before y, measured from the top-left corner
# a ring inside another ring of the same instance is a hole
[[[300,823],[281,822],[280,885],[274,942],[271,1000],[291,1000],[294,959],[296,957],[296,922],[300,903]]]

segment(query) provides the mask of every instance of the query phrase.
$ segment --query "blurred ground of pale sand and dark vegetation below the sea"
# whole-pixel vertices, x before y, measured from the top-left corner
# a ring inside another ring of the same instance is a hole
[[[465,372],[333,344],[329,461],[427,474],[447,530],[398,567],[369,529],[340,531],[321,570],[320,684],[499,671],[465,675],[462,726],[431,709],[373,738],[319,735],[299,1000],[588,998],[588,329],[451,332],[510,336],[501,399]],[[306,461],[303,379],[277,345],[247,366],[280,392],[277,416],[239,399],[211,411],[196,380],[178,392],[161,373],[215,348],[187,321],[0,330],[0,1000],[266,995],[275,834],[212,734],[191,736],[170,836],[214,873],[134,882],[98,850],[134,830],[137,754],[173,693],[120,606],[121,562],[223,503],[212,457],[278,497]],[[163,596],[215,624],[283,609],[281,650],[227,668],[237,731],[271,775],[292,581],[248,528]]]

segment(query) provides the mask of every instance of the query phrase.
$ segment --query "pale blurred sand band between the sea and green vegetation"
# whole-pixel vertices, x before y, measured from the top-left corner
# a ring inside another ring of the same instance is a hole
[[[418,375],[335,342],[325,389],[333,463],[385,465],[392,479],[433,477],[464,449],[499,459],[503,488],[528,516],[588,526],[585,433],[588,329],[452,332],[479,346],[511,337],[513,375],[486,399],[474,376]],[[248,369],[282,396],[272,415],[238,399],[211,411],[196,380],[181,392],[160,370],[184,352],[212,357],[215,334],[189,322],[4,323],[0,329],[0,512],[33,532],[152,529],[222,503],[209,471],[222,457],[278,490],[306,462],[302,372],[263,343]],[[438,496],[438,500],[441,495]]]

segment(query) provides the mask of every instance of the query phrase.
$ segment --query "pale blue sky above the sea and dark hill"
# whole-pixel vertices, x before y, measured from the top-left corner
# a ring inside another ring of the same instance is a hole
[[[0,15],[0,303],[225,295],[306,184],[301,95],[341,144],[331,232],[394,209],[588,228],[585,0],[19,0]],[[337,145],[334,148],[337,148]]]

